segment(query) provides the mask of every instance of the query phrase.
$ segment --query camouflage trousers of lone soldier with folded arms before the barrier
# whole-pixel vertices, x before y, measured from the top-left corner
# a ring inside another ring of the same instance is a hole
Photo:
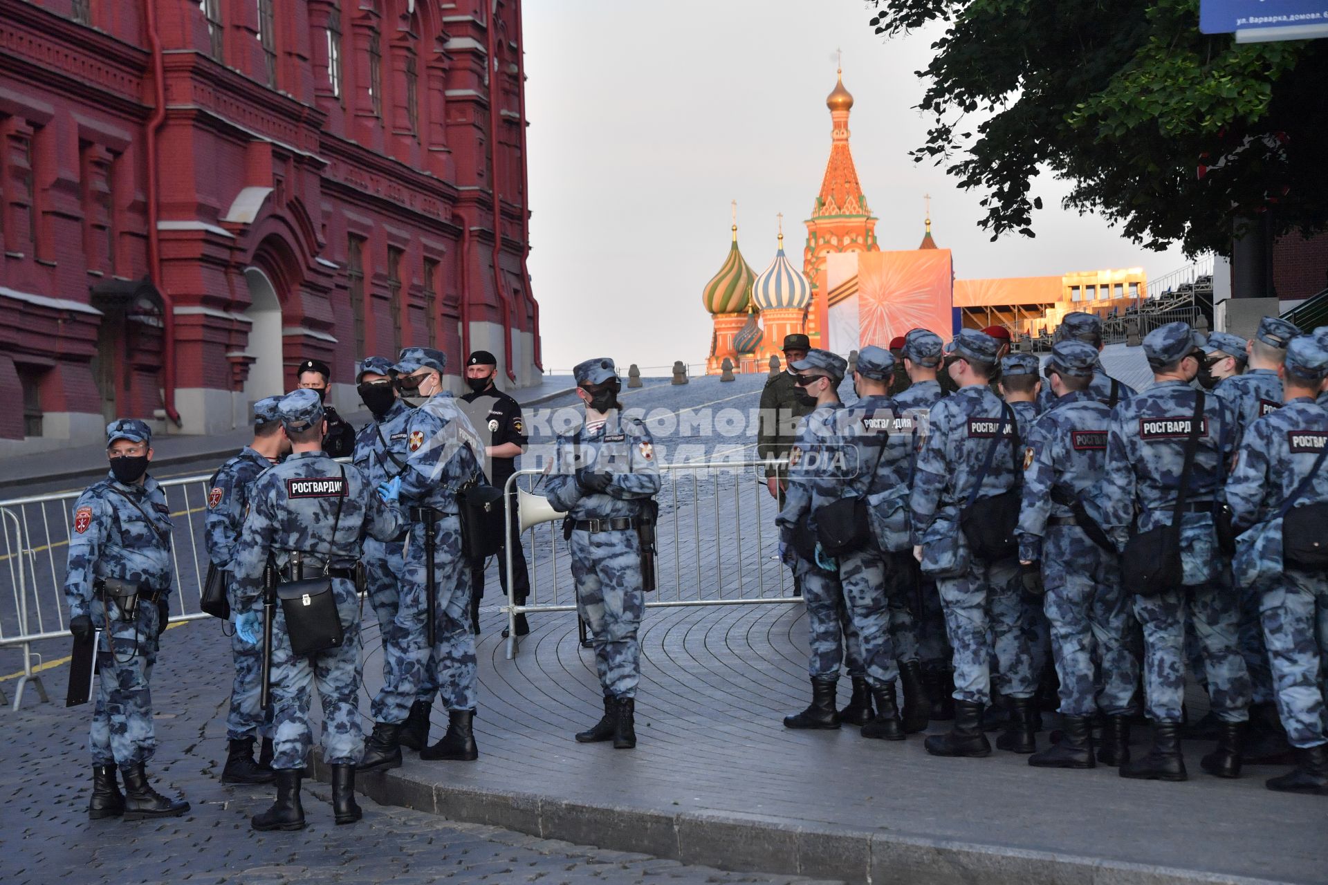
[[[595,647],[604,697],[635,698],[641,681],[637,632],[645,610],[641,541],[636,531],[574,531],[567,541],[576,585],[576,613]]]

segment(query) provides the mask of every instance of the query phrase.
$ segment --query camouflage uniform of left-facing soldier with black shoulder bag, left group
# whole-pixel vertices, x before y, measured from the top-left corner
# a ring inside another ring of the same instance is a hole
[[[398,374],[433,368],[440,374],[446,357],[428,348],[406,348]],[[384,705],[381,722],[404,722],[410,703],[421,697],[428,665],[436,667],[442,706],[450,713],[474,710],[475,637],[470,632],[470,567],[461,540],[458,495],[469,483],[485,482],[479,459],[483,443],[457,399],[440,391],[406,418],[406,468],[401,472],[401,506],[409,507],[410,535],[405,548],[405,579],[396,616],[404,654],[394,674],[393,699]],[[428,649],[428,598],[424,510],[434,511],[434,645]],[[396,718],[393,718],[396,716]]]

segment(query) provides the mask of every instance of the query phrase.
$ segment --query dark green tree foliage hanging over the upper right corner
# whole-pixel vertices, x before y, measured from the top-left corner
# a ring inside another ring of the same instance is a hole
[[[1149,248],[1230,253],[1234,226],[1328,227],[1328,40],[1199,33],[1198,0],[871,0],[876,33],[940,23],[914,159],[1033,236],[1040,171]],[[1207,167],[1201,175],[1201,167]]]

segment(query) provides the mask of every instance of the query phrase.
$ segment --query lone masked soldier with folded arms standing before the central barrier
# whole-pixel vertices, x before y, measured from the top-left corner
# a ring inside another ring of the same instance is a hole
[[[614,361],[586,360],[572,374],[586,418],[559,434],[546,488],[548,503],[567,513],[563,536],[572,557],[576,610],[590,633],[604,693],[603,718],[576,740],[612,740],[615,748],[631,750],[641,678],[636,633],[645,608],[640,532],[643,519],[653,521],[659,463],[645,423],[622,411]]]

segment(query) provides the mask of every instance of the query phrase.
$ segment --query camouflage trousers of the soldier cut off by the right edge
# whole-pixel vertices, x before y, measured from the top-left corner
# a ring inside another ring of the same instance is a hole
[[[1287,569],[1260,593],[1263,636],[1272,658],[1278,715],[1292,747],[1328,743],[1324,653],[1328,577]]]

